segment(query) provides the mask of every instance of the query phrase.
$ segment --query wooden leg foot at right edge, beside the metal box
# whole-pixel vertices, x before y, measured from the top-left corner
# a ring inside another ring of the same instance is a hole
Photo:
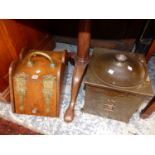
[[[155,97],[142,110],[142,112],[140,113],[140,117],[143,119],[148,118],[154,111],[155,111]]]

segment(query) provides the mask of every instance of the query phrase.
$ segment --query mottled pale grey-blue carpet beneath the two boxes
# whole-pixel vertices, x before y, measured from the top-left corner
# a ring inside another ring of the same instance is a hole
[[[76,51],[76,46],[57,43],[55,50],[68,49]],[[155,57],[148,63],[150,78],[155,86]],[[148,119],[141,119],[139,113],[146,106],[142,103],[139,110],[133,114],[129,123],[124,123],[108,118],[102,118],[87,113],[82,113],[81,108],[84,105],[85,91],[82,83],[75,107],[75,118],[71,123],[65,123],[63,120],[64,112],[70,100],[71,80],[74,67],[68,64],[64,80],[62,93],[62,103],[59,118],[27,116],[14,114],[9,104],[0,102],[0,116],[13,121],[19,125],[32,129],[33,131],[48,135],[152,135],[155,134],[155,113]],[[155,88],[155,87],[154,87]]]

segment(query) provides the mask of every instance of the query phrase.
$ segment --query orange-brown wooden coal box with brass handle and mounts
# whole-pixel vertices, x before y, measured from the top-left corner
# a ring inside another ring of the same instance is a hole
[[[66,51],[29,50],[10,65],[9,86],[15,113],[59,116]]]

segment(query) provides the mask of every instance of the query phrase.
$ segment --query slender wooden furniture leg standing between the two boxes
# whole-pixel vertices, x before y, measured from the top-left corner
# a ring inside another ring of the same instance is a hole
[[[74,107],[76,98],[81,85],[82,77],[88,64],[90,46],[90,20],[80,21],[80,30],[78,34],[78,51],[75,61],[75,68],[72,77],[71,100],[64,116],[66,122],[71,122],[74,118]]]

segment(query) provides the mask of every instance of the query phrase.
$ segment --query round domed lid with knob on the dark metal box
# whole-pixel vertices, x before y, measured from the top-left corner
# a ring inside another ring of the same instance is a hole
[[[132,53],[103,53],[95,56],[90,65],[95,76],[114,87],[133,87],[146,78],[141,57]]]

